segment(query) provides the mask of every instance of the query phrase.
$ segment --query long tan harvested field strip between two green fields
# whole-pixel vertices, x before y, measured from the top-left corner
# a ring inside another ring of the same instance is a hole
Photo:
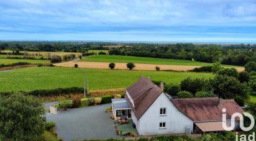
[[[88,62],[88,61],[68,61],[64,63],[57,63],[56,66],[74,67],[78,64],[79,68],[103,68],[109,69],[109,63],[103,62]],[[161,70],[178,70],[186,71],[200,66],[180,66],[180,65],[151,65],[151,64],[135,64],[134,70],[155,70],[155,66],[160,66]],[[126,63],[116,63],[115,69],[127,69]],[[244,68],[236,68],[238,71],[243,71]]]

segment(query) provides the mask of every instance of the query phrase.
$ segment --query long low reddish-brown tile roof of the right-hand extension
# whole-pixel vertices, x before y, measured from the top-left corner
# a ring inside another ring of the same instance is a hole
[[[222,108],[226,108],[227,119],[235,112],[244,112],[233,99],[188,98],[171,99],[173,105],[192,121],[222,120]]]

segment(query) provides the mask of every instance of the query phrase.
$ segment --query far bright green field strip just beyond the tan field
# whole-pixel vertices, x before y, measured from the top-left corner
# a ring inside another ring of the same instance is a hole
[[[109,62],[109,63],[144,63],[154,65],[185,65],[185,66],[211,66],[213,63],[203,63],[199,61],[190,60],[174,60],[163,58],[149,58],[149,57],[130,57],[122,55],[95,55],[83,58],[80,61],[95,61],[95,62]],[[229,66],[229,65],[226,65]]]

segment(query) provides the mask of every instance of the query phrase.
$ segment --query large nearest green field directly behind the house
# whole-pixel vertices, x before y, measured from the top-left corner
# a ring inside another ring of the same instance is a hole
[[[188,73],[139,70],[101,70],[85,68],[32,67],[0,72],[0,91],[30,91],[33,89],[83,87],[83,72],[89,80],[89,90],[127,88],[140,76],[166,83],[191,78],[210,78],[211,73]]]

